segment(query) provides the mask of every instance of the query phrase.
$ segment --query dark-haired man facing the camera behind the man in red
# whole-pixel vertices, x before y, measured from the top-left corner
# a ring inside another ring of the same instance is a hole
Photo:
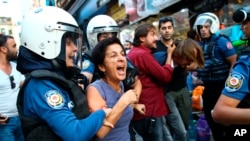
[[[165,58],[167,57],[167,49],[168,47],[171,47],[174,44],[174,21],[171,17],[161,17],[159,19],[159,25],[158,30],[160,33],[160,40],[158,40],[157,48],[153,50],[154,57],[156,60],[161,64],[165,64]],[[174,66],[173,66],[174,67]],[[178,74],[181,75],[181,74]],[[181,75],[182,77],[182,75]],[[183,78],[183,77],[182,77]],[[181,83],[182,84],[182,83]],[[186,129],[183,122],[183,119],[180,115],[180,112],[177,103],[175,103],[174,98],[171,93],[169,93],[170,89],[166,87],[165,85],[165,99],[167,101],[170,113],[166,116],[166,123],[171,130],[171,133],[169,135],[169,138],[173,140],[175,138],[176,141],[185,141],[186,140]],[[176,99],[177,100],[177,99]],[[182,100],[185,100],[182,98]],[[183,105],[185,103],[190,103],[187,99],[184,101]],[[189,107],[190,104],[185,105],[186,108]],[[185,110],[185,113],[187,113],[189,110]],[[184,118],[184,117],[183,117]],[[188,120],[188,119],[187,119]]]

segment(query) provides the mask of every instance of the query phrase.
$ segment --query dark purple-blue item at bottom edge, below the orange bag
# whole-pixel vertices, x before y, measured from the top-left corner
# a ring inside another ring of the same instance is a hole
[[[210,141],[211,131],[205,115],[202,113],[196,124],[197,141]]]

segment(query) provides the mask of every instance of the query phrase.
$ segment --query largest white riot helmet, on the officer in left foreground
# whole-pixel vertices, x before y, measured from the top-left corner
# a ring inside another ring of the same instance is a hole
[[[75,44],[81,46],[82,31],[68,12],[58,7],[40,7],[29,13],[22,23],[21,46],[45,59],[61,56],[65,61],[65,41],[62,40],[65,35],[74,36]]]

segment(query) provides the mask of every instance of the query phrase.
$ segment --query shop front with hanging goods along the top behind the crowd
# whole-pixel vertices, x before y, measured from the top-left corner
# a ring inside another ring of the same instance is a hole
[[[230,27],[235,24],[232,13],[249,2],[250,0],[91,0],[82,6],[78,5],[79,8],[72,14],[83,30],[93,16],[110,15],[121,27],[120,39],[123,42],[132,41],[134,29],[142,23],[152,23],[158,28],[158,20],[163,16],[174,19],[174,38],[184,39],[198,14],[214,12],[220,19],[221,27],[226,27],[222,33],[233,37],[234,34],[230,33]]]

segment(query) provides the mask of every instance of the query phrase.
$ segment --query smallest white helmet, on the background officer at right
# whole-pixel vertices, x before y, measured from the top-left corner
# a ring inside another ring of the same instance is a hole
[[[220,21],[218,17],[210,12],[202,13],[198,15],[198,17],[195,20],[193,29],[196,30],[196,32],[199,34],[199,26],[204,25],[205,23],[210,23],[210,32],[212,34],[215,34],[219,30]]]

